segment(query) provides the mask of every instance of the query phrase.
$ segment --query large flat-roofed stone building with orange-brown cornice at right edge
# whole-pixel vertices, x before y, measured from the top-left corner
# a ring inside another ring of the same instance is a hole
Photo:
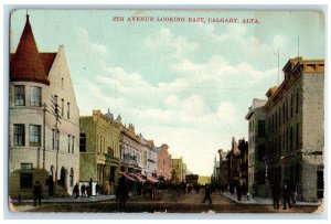
[[[289,183],[299,200],[323,198],[324,61],[290,58],[267,92],[268,181]]]

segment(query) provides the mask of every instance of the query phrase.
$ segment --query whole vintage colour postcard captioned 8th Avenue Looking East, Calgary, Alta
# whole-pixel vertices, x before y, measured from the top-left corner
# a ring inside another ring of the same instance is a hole
[[[322,11],[19,9],[11,212],[321,213]]]

